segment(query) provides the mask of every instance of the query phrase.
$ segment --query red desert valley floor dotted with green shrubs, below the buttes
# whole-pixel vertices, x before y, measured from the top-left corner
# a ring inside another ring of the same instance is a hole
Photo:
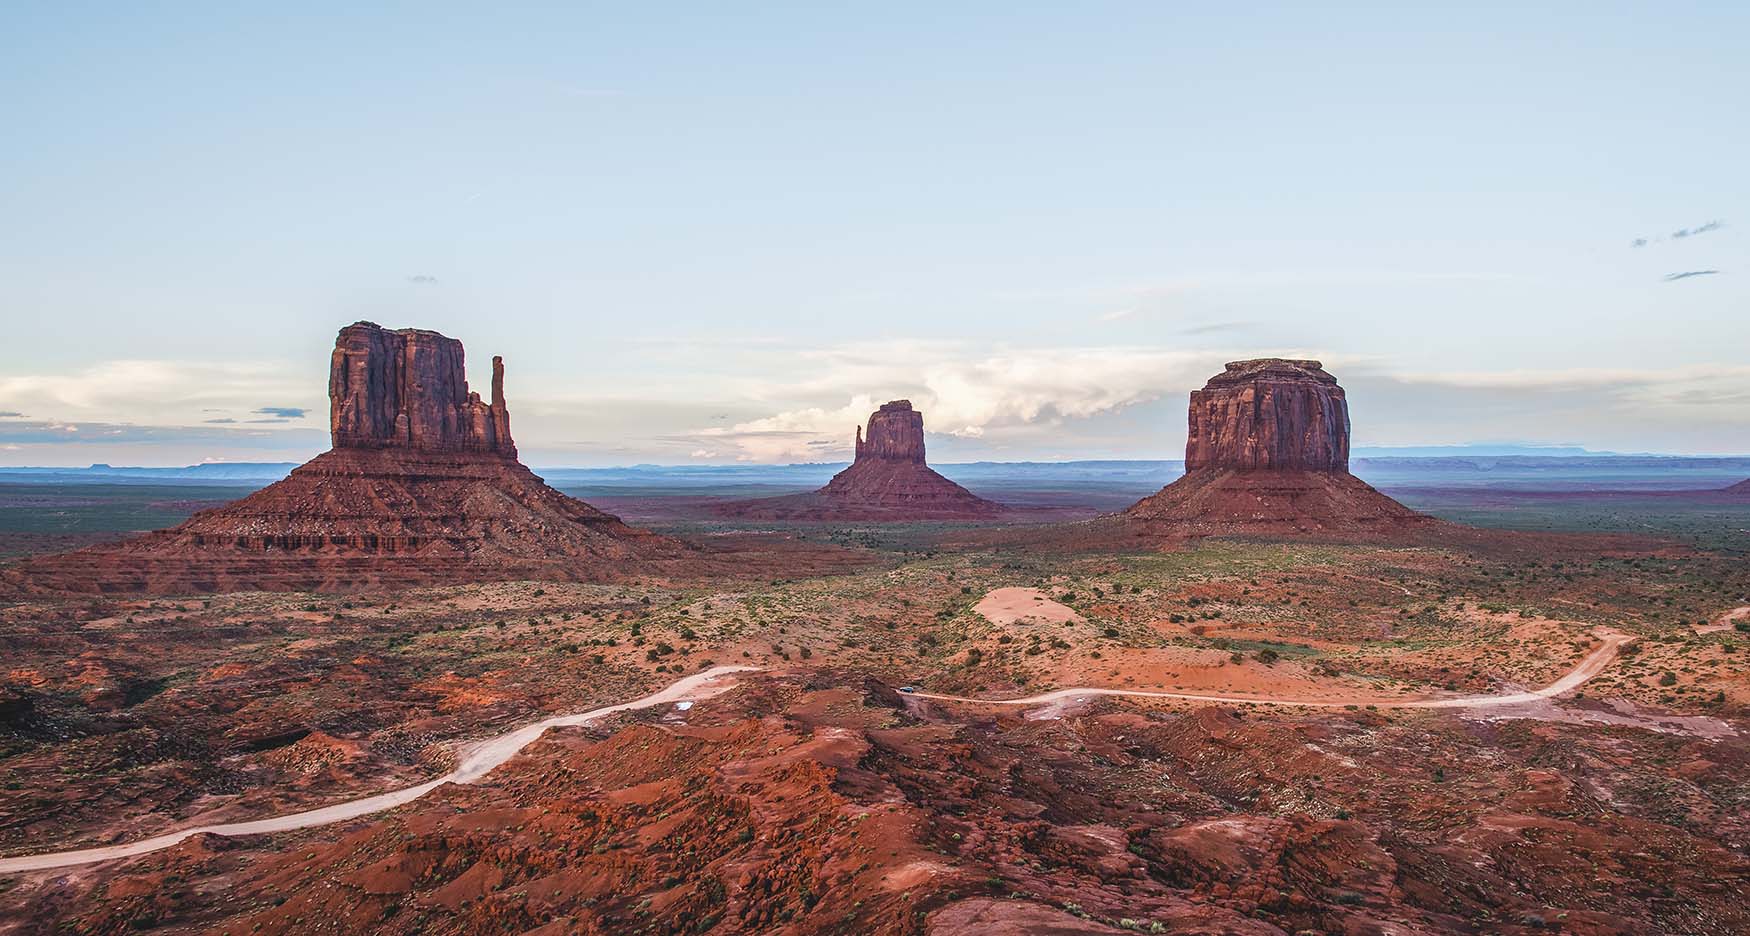
[[[0,871],[0,931],[1750,927],[1741,556],[1027,530],[690,528],[732,577],[14,600],[0,868],[429,784],[690,682],[390,812]]]

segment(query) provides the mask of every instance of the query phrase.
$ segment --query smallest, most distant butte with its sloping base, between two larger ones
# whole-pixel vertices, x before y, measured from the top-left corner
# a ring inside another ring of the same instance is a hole
[[[788,497],[737,500],[721,516],[749,520],[990,520],[1006,507],[936,474],[924,464],[924,415],[912,401],[886,402],[856,430],[856,458],[824,488]]]

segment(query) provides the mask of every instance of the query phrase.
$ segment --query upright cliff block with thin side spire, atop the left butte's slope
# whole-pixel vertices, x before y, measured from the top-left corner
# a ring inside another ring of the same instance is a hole
[[[329,360],[334,448],[486,451],[516,457],[504,404],[504,359],[492,359],[492,402],[469,392],[462,343],[425,329],[354,322]]]

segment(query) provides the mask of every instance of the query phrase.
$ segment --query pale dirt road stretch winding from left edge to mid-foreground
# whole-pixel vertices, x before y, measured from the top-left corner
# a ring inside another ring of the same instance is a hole
[[[224,822],[219,826],[194,826],[189,829],[178,829],[173,833],[164,833],[152,838],[142,838],[140,842],[130,842],[126,845],[102,845],[96,849],[79,849],[74,852],[49,852],[40,856],[19,856],[0,859],[0,875],[16,871],[42,871],[47,868],[66,868],[70,864],[89,864],[93,861],[110,861],[117,857],[144,856],[147,852],[156,852],[159,849],[168,849],[191,835],[261,835],[261,833],[284,833],[289,829],[308,829],[312,826],[327,826],[329,822],[341,822],[345,819],[357,819],[360,815],[369,815],[373,812],[382,812],[396,808],[402,803],[411,803],[420,796],[438,789],[443,784],[471,784],[485,777],[492,768],[509,761],[518,751],[527,747],[530,742],[539,738],[548,728],[564,728],[570,724],[586,724],[598,717],[611,716],[614,712],[626,712],[632,709],[649,709],[651,705],[662,705],[665,702],[682,702],[709,698],[718,693],[730,689],[735,681],[724,679],[738,672],[754,670],[758,667],[714,667],[710,670],[693,674],[677,682],[668,684],[644,698],[632,702],[621,702],[620,705],[606,705],[602,709],[592,709],[588,712],[579,712],[576,716],[555,716],[550,719],[537,721],[534,724],[525,724],[495,738],[486,738],[471,745],[464,756],[460,766],[438,777],[436,780],[424,782],[416,787],[397,789],[392,793],[380,793],[376,796],[366,796],[362,800],[348,800],[345,803],[334,803],[331,807],[322,807],[306,812],[294,812],[289,815],[273,815],[268,819],[254,819],[250,822]]]

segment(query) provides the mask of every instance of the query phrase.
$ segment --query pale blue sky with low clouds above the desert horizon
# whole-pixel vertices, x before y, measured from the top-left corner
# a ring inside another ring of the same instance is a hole
[[[1409,7],[5,3],[0,465],[315,455],[354,320],[536,465],[1750,453],[1750,7]]]

